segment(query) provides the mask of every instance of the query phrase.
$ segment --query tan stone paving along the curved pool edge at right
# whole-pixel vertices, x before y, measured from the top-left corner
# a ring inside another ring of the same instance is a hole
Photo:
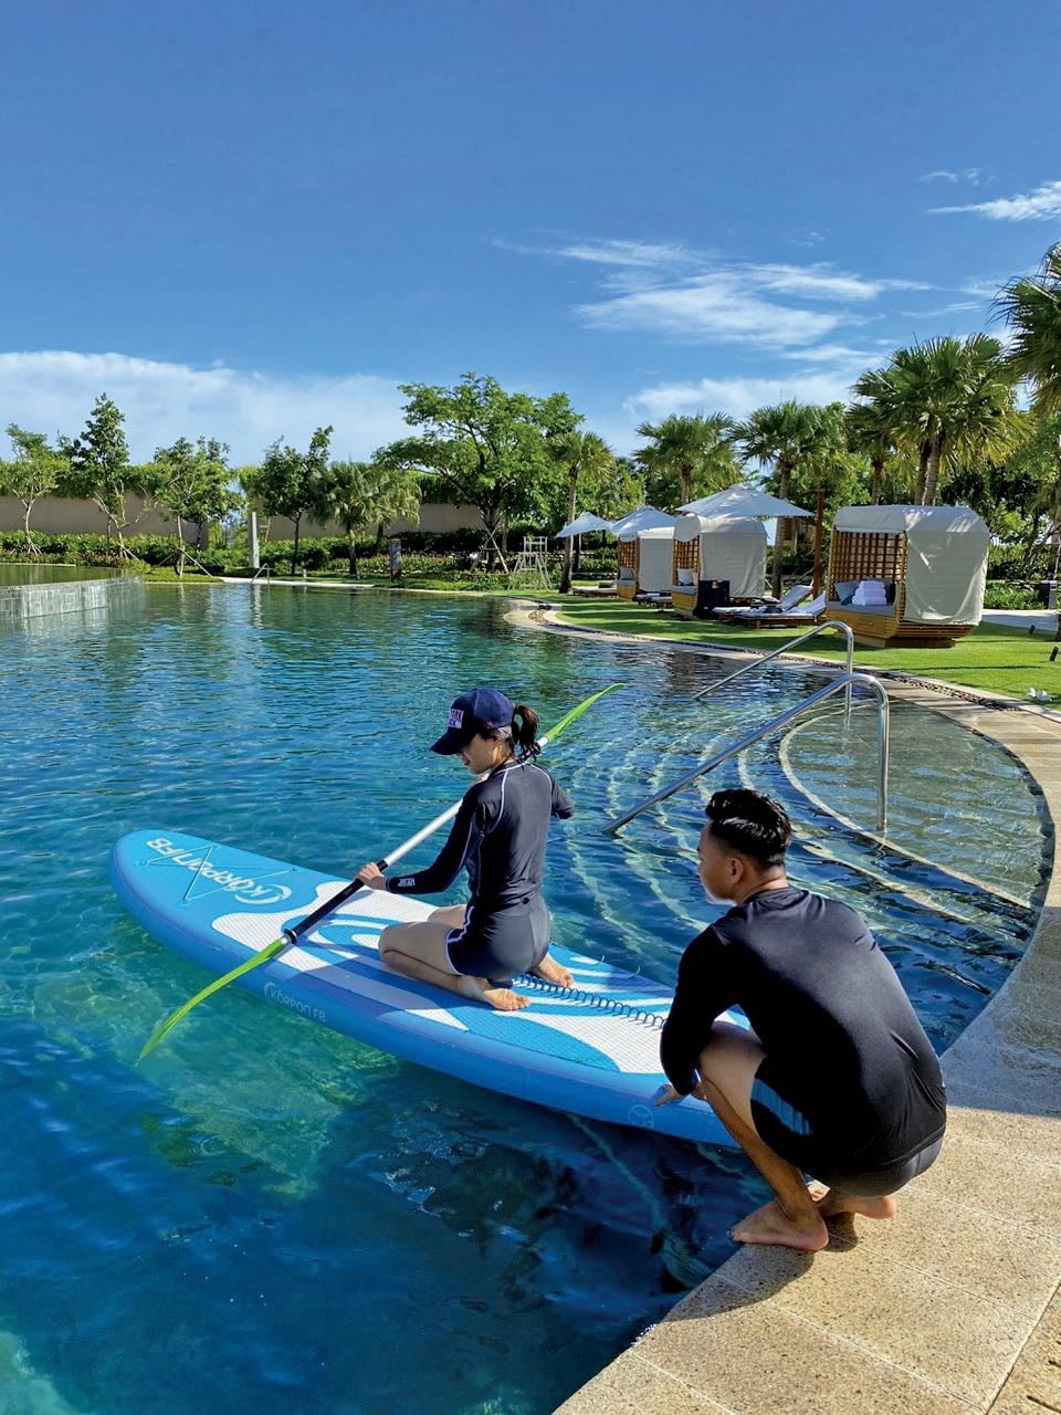
[[[1014,753],[1061,821],[1061,716],[887,688]],[[894,1221],[835,1221],[813,1257],[741,1248],[556,1415],[1061,1415],[1057,856],[1024,958],[944,1073],[944,1153]]]

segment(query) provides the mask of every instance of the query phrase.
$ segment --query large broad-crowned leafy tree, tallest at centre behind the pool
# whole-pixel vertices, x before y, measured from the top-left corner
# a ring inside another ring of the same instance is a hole
[[[508,572],[505,528],[545,512],[555,477],[549,441],[581,417],[564,393],[508,393],[494,378],[465,374],[454,388],[403,383],[405,420],[417,436],[376,453],[389,466],[429,473],[458,505],[475,507],[487,543]]]

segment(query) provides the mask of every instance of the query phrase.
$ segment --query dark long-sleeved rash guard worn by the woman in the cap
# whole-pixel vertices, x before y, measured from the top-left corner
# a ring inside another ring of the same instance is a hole
[[[386,882],[392,894],[437,894],[468,872],[471,903],[497,911],[542,890],[549,818],[567,819],[570,797],[533,761],[501,767],[461,801],[450,838],[426,870]]]

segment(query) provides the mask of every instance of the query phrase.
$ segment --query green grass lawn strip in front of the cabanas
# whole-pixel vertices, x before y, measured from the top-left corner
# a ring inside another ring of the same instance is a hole
[[[557,594],[540,597],[562,606],[559,618],[566,624],[617,634],[642,634],[662,641],[771,649],[799,635],[798,628],[747,630],[713,620],[680,620],[666,611],[625,600],[583,600]],[[854,662],[867,672],[894,668],[1009,698],[1023,698],[1027,688],[1041,688],[1057,703],[1061,702],[1061,652],[1055,664],[1050,662],[1055,647],[1053,634],[1043,630],[1030,635],[1027,630],[982,624],[972,634],[959,638],[953,648],[863,648],[856,644]],[[842,659],[843,640],[829,631],[821,638],[808,640],[795,651],[799,652]]]

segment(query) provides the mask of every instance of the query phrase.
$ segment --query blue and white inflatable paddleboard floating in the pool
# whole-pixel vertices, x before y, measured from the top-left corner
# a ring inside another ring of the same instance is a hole
[[[216,976],[347,883],[175,831],[123,836],[110,865],[137,923]],[[574,988],[525,978],[518,986],[530,1005],[495,1012],[383,968],[381,930],[429,913],[419,900],[361,890],[308,938],[238,981],[311,1022],[474,1085],[590,1119],[733,1143],[702,1101],[652,1105],[665,1080],[665,988],[553,948]]]

